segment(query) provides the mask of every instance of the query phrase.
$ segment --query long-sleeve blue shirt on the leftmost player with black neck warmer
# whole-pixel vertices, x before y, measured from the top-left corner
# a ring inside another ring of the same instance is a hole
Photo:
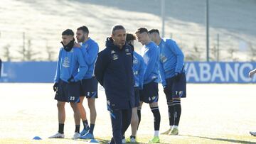
[[[87,70],[88,67],[80,48],[73,48],[70,52],[60,48],[54,82],[58,83],[60,79],[68,82],[72,76],[75,82],[78,82],[84,77]]]

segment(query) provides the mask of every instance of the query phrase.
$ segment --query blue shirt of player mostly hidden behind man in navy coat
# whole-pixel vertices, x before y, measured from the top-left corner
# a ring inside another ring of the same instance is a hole
[[[143,57],[134,51],[132,66],[135,81],[134,87],[139,87],[140,89],[143,88],[145,67],[146,65],[144,63]]]

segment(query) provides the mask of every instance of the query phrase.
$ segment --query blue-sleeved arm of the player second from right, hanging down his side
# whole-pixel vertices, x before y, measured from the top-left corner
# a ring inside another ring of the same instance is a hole
[[[149,62],[145,70],[144,79],[149,77],[149,74],[154,70],[154,66],[157,60],[159,53],[156,48],[151,48],[149,51]]]

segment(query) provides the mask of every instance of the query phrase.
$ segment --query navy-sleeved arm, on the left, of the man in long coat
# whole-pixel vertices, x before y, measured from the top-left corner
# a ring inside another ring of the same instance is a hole
[[[103,86],[105,70],[107,68],[107,63],[108,63],[107,54],[103,50],[102,52],[98,53],[98,57],[95,63],[95,77],[102,86]]]

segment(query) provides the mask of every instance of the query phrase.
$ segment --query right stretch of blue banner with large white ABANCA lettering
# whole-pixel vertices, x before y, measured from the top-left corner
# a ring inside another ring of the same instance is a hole
[[[248,77],[255,62],[186,62],[186,79],[189,83],[255,83]]]

